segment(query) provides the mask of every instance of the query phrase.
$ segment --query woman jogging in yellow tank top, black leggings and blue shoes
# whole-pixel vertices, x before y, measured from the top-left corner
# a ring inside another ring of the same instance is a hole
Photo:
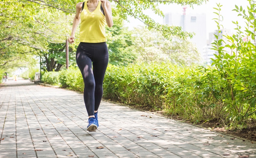
[[[88,131],[99,127],[98,108],[103,94],[102,84],[108,65],[108,47],[105,25],[113,26],[111,4],[107,0],[86,0],[76,4],[69,43],[74,43],[76,28],[80,25],[76,63],[84,79],[84,103],[89,116]]]

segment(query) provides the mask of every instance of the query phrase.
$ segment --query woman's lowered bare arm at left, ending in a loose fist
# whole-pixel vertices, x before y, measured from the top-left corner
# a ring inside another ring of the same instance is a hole
[[[80,13],[82,10],[82,6],[83,6],[83,2],[79,2],[78,4],[76,4],[76,15],[73,20],[71,35],[68,38],[68,43],[70,43],[70,44],[74,43],[74,40],[75,40],[75,32],[76,32],[76,28],[80,21]]]

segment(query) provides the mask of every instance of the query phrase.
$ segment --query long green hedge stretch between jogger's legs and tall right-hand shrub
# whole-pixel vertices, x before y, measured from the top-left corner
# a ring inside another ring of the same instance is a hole
[[[181,115],[194,122],[224,115],[220,77],[204,67],[171,63],[109,65],[103,97],[143,105],[165,114]]]

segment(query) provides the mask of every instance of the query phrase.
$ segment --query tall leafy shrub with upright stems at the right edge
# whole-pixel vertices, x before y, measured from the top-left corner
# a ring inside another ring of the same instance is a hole
[[[217,10],[215,14],[218,19],[215,19],[218,27],[218,34],[215,35],[213,48],[218,54],[215,54],[212,65],[216,67],[217,75],[222,79],[223,102],[226,103],[225,111],[228,112],[227,118],[230,123],[240,128],[245,121],[250,118],[255,118],[256,110],[256,23],[254,13],[256,4],[252,0],[248,0],[249,6],[246,10],[236,6],[234,9],[238,16],[242,16],[246,23],[245,30],[239,25],[238,21],[233,22],[236,25],[236,34],[233,36],[225,36],[227,41],[219,38],[221,32],[220,24],[221,15],[220,7],[214,8]]]

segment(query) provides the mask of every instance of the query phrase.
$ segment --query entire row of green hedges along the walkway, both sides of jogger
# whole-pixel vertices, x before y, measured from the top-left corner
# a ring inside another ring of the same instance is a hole
[[[57,76],[62,87],[84,90],[83,78],[77,67],[59,73],[45,73],[44,82],[56,84]],[[248,110],[234,113],[229,88],[227,80],[212,67],[182,67],[170,63],[130,64],[127,67],[109,65],[104,78],[103,97],[163,110],[167,115],[180,115],[193,122],[217,119],[223,124],[234,125],[255,118],[254,113],[249,113],[255,110],[250,107],[253,102],[250,103],[249,99],[242,99],[243,104],[240,104],[244,106],[242,109],[249,107]],[[245,92],[236,91],[238,97],[241,93]],[[238,119],[242,121],[237,122]]]

